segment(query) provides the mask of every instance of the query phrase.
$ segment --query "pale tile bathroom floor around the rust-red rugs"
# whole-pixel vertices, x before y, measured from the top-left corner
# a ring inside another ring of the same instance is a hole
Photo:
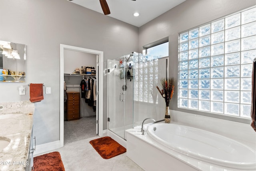
[[[92,139],[96,138],[99,137],[67,143],[64,144],[64,147],[53,151],[60,153],[66,171],[143,171],[126,156],[126,153],[111,159],[100,157],[89,143]]]

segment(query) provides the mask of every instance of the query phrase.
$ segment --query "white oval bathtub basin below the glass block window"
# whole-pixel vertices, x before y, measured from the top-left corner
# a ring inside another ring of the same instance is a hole
[[[148,126],[147,134],[165,147],[200,161],[233,169],[256,169],[254,150],[216,133],[184,125],[156,123]]]

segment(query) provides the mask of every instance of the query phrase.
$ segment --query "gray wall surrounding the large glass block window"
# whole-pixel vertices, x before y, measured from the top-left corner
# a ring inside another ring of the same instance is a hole
[[[174,77],[174,80],[178,80],[178,34],[180,32],[243,10],[255,4],[255,0],[186,0],[182,4],[172,8],[139,28],[139,52],[142,53],[142,46],[168,37],[170,77]],[[170,102],[170,109],[200,114],[198,111],[178,109],[177,84],[176,81],[175,93]]]

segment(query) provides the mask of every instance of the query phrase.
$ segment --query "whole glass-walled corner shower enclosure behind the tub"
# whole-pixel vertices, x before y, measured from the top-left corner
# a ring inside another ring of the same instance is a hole
[[[168,76],[168,57],[132,52],[108,60],[108,130],[126,139],[125,130],[145,118],[164,119],[165,102],[156,85]]]

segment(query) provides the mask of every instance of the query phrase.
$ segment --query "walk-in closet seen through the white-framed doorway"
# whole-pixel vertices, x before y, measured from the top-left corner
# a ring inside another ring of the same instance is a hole
[[[97,58],[64,50],[64,144],[97,135]]]

